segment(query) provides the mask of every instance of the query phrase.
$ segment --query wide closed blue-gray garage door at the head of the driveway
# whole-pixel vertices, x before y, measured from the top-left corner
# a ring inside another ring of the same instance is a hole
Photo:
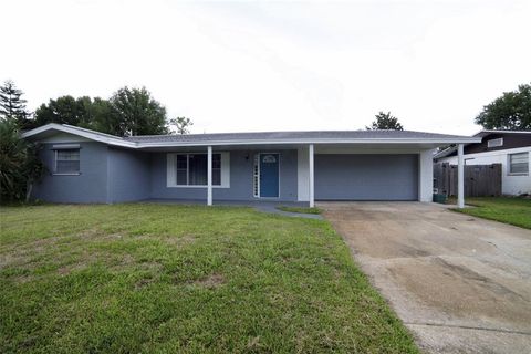
[[[418,155],[315,155],[315,199],[417,200]]]

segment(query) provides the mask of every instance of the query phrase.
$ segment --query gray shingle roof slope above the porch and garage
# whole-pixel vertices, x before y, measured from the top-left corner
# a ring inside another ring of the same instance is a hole
[[[410,131],[321,131],[321,132],[260,132],[185,135],[137,135],[124,139],[135,143],[205,143],[231,140],[299,140],[299,139],[460,139],[466,136]]]

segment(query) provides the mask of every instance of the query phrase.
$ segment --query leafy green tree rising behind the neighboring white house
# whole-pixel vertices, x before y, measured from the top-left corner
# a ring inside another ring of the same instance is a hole
[[[531,84],[518,86],[518,91],[504,92],[483,106],[476,124],[486,129],[531,131]]]

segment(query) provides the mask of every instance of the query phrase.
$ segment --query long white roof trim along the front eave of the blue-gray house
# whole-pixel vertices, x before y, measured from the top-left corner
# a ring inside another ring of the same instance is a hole
[[[23,138],[29,138],[48,131],[64,132],[77,136],[92,139],[113,146],[127,147],[133,149],[153,148],[153,147],[187,147],[187,146],[219,146],[219,145],[280,145],[280,144],[464,144],[464,143],[480,143],[479,137],[462,137],[462,138],[351,138],[351,139],[334,139],[334,138],[315,138],[315,139],[238,139],[238,140],[210,140],[210,142],[160,142],[160,143],[142,143],[128,142],[121,137],[98,133],[76,126],[50,123],[41,127],[22,134]]]

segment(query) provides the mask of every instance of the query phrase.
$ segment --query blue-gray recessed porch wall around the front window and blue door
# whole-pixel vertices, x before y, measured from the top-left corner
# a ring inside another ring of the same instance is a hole
[[[252,195],[253,156],[263,150],[230,152],[230,188],[214,188],[217,200],[258,200]],[[280,197],[274,200],[296,200],[296,150],[274,150],[280,154]],[[152,198],[206,200],[207,188],[166,187],[166,154],[152,155]]]

